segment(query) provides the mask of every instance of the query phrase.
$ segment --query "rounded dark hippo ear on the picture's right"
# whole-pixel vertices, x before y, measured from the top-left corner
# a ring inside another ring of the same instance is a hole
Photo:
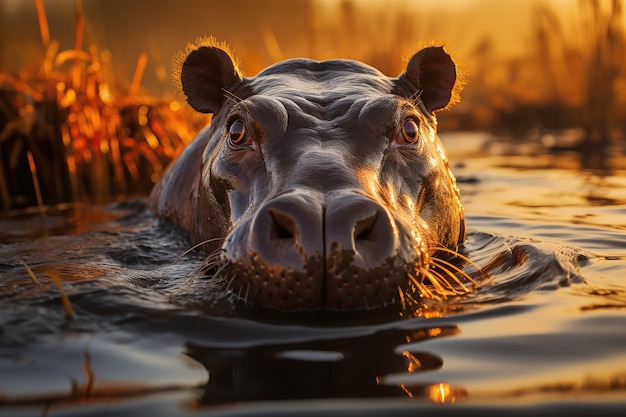
[[[410,81],[413,94],[419,93],[429,112],[443,109],[452,100],[456,65],[443,47],[427,47],[411,57],[400,79]]]

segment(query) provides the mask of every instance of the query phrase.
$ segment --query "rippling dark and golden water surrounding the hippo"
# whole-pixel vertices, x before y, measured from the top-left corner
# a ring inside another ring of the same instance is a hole
[[[444,141],[492,276],[405,317],[211,306],[141,201],[0,220],[0,415],[622,415],[626,163]]]

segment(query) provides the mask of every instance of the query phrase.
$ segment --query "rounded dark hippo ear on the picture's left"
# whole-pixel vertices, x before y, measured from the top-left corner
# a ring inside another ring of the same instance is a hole
[[[230,53],[217,46],[191,50],[180,69],[187,102],[201,113],[216,113],[224,103],[224,90],[235,89],[241,81]]]

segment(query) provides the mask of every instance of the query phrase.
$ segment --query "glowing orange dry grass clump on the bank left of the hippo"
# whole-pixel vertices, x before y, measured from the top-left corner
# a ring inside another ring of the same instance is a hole
[[[4,210],[69,201],[107,202],[146,193],[193,139],[193,116],[172,99],[138,94],[147,56],[125,91],[114,91],[111,56],[59,51],[36,0],[45,58],[38,71],[0,73],[0,195]]]

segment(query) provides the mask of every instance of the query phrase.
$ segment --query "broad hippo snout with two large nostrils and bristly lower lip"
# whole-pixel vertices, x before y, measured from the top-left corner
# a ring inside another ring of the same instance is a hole
[[[384,206],[366,196],[282,195],[227,239],[227,274],[234,277],[230,291],[280,310],[393,303],[407,281],[406,273],[393,272],[398,271],[397,235]]]

